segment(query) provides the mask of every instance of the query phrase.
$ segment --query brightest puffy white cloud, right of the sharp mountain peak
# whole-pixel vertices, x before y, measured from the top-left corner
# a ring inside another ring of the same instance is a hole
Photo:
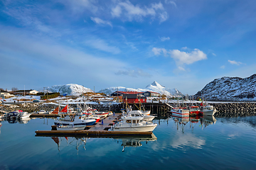
[[[206,60],[207,55],[201,50],[194,49],[192,52],[181,52],[180,50],[170,50],[169,54],[176,61],[176,64],[192,64],[200,60]]]

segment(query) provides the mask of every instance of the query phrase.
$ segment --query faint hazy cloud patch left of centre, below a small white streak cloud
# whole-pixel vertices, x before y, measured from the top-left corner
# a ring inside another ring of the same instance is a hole
[[[108,45],[107,42],[101,39],[90,39],[85,41],[85,45],[88,45],[90,47],[93,47],[98,50],[102,50],[105,52],[111,52],[114,55],[117,55],[121,52],[118,47]]]

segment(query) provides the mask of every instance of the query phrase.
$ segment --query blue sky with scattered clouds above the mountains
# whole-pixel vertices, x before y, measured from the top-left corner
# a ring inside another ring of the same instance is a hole
[[[0,1],[0,87],[196,94],[256,70],[256,1]]]

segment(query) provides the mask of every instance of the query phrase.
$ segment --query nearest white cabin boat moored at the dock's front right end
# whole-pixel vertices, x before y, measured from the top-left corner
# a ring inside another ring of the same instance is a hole
[[[141,116],[123,116],[122,120],[115,123],[110,130],[126,132],[152,132],[157,124],[142,120]]]

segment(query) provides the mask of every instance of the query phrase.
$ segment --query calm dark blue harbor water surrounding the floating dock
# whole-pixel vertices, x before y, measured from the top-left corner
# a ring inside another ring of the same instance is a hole
[[[53,119],[1,122],[0,169],[255,169],[256,117],[154,120],[153,138],[36,137]]]

